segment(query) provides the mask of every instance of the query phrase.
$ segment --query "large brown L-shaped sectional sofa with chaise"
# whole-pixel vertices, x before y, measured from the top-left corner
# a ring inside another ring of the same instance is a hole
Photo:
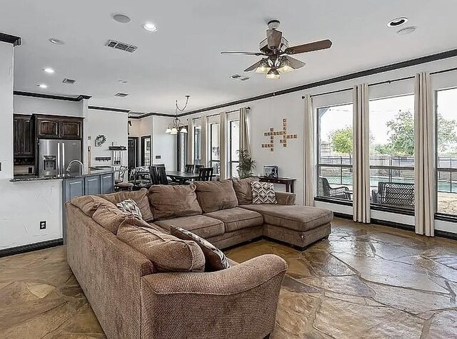
[[[88,196],[66,203],[67,258],[108,338],[253,338],[274,328],[286,263],[264,255],[223,271],[160,273],[117,238],[125,215],[117,202],[133,199],[143,218],[169,233],[180,226],[225,249],[267,236],[308,246],[330,233],[330,211],[249,202],[250,179]],[[167,254],[164,253],[164,256]]]

